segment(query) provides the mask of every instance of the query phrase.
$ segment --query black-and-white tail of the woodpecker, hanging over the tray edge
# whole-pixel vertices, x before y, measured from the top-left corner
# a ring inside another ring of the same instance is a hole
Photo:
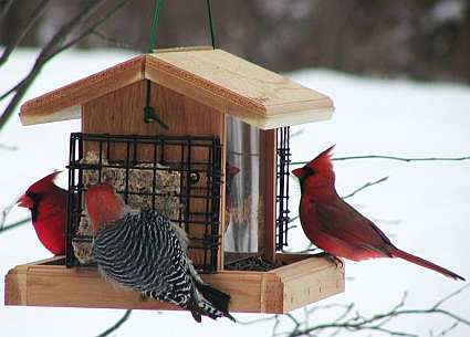
[[[189,309],[197,322],[201,322],[201,315],[212,319],[227,317],[236,322],[229,313],[230,295],[216,289],[207,283],[197,282],[196,287],[202,296]]]

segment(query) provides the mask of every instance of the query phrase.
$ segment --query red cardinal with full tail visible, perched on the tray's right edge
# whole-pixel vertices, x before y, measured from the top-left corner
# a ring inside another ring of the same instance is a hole
[[[333,147],[292,171],[301,183],[300,219],[305,235],[334,256],[354,261],[400,257],[464,281],[451,271],[397,249],[377,225],[340,198],[331,161]]]

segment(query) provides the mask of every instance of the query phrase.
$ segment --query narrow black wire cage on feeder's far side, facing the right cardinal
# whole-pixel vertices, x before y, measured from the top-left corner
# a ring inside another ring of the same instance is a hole
[[[275,250],[288,245],[290,223],[289,210],[289,166],[291,162],[290,127],[276,129],[276,193],[275,193]]]

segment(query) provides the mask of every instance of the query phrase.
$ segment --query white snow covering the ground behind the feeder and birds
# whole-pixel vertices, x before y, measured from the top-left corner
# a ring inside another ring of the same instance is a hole
[[[0,92],[12,86],[33,62],[30,50],[15,53],[0,69]],[[27,98],[49,92],[121,61],[132,54],[113,51],[71,51],[55,57],[42,72]],[[370,80],[330,71],[300,71],[290,74],[300,83],[328,94],[336,113],[331,122],[294,127],[302,133],[292,139],[294,160],[306,160],[336,144],[335,156],[396,155],[404,157],[447,157],[470,154],[470,87],[455,84],[424,84],[409,81]],[[0,104],[0,108],[4,103]],[[80,129],[80,122],[20,126],[13,116],[0,133],[0,144],[15,146],[15,151],[0,148],[0,208],[11,203],[36,179],[53,169],[64,168],[69,134]],[[367,159],[336,161],[337,189],[346,194],[363,183],[385,176],[390,178],[372,187],[349,202],[365,215],[378,219],[378,225],[393,235],[397,246],[470,277],[470,161],[399,162]],[[65,175],[62,175],[65,176]],[[61,177],[65,185],[65,177]],[[296,193],[299,194],[299,191]],[[291,209],[295,212],[294,196]],[[9,220],[27,213],[13,209]],[[391,220],[380,221],[380,220]],[[10,222],[9,221],[9,222]],[[395,222],[399,221],[398,224]],[[394,224],[395,223],[395,224]],[[293,250],[306,241],[300,229],[292,231]],[[0,235],[0,274],[17,264],[50,256],[36,242],[31,225]],[[363,314],[385,312],[409,292],[407,304],[425,308],[463,283],[441,277],[401,261],[347,262],[347,289],[323,301],[356,303]],[[3,283],[0,298],[3,297]],[[446,305],[470,317],[470,289]],[[302,314],[302,310],[297,312]],[[332,315],[324,310],[315,322]],[[0,306],[1,336],[94,336],[111,326],[122,310],[69,309]],[[260,315],[236,314],[241,320]],[[330,316],[331,317],[331,316]],[[230,322],[205,320],[197,325],[188,313],[135,310],[115,336],[270,336],[272,323],[252,326]],[[397,319],[391,326],[420,336],[442,329],[449,320],[438,316]],[[451,336],[468,335],[458,327]],[[366,335],[366,334],[364,334]]]

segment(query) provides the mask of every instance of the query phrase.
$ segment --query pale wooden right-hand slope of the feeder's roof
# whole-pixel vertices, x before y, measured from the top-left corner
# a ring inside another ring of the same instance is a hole
[[[240,105],[257,107],[258,113],[274,113],[267,107],[301,102],[323,102],[325,95],[222,50],[150,54],[164,63],[153,63],[167,72],[197,83],[208,91]]]

